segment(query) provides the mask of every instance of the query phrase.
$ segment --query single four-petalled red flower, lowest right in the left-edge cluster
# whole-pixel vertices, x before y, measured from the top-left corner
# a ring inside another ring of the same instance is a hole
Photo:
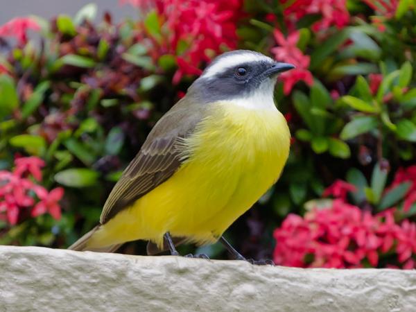
[[[32,216],[39,216],[46,212],[49,212],[53,218],[59,220],[61,217],[60,206],[58,202],[64,196],[64,189],[62,187],[57,187],[48,193],[43,187],[36,187],[34,189],[37,197],[40,198],[32,210]]]

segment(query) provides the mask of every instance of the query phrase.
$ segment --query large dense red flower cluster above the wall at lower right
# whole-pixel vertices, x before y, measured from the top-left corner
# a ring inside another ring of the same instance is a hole
[[[361,268],[379,265],[379,256],[397,255],[401,268],[416,268],[416,224],[395,223],[395,209],[373,216],[343,200],[290,214],[275,230],[275,263],[283,266]],[[389,263],[390,264],[390,263]],[[392,265],[390,265],[392,267]]]

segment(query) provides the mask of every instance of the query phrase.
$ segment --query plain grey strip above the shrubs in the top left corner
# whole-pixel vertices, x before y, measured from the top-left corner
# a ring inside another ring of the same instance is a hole
[[[114,21],[120,21],[123,17],[135,17],[136,12],[131,6],[120,6],[118,0],[0,0],[0,25],[13,17],[26,15],[39,15],[50,18],[59,13],[73,16],[80,8],[88,3],[97,3],[97,19],[101,19],[103,12],[112,13]]]

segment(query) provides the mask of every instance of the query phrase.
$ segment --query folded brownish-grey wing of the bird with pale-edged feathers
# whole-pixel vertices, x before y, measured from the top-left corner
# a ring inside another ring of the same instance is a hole
[[[101,224],[162,184],[180,167],[184,159],[177,142],[191,135],[205,112],[198,104],[191,106],[186,97],[182,98],[156,123],[107,198]]]

